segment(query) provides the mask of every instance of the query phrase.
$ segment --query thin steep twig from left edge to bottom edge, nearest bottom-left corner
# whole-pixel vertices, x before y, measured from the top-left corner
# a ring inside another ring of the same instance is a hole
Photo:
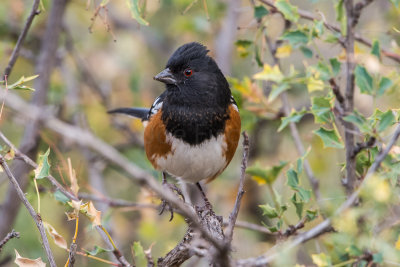
[[[33,218],[33,220],[36,223],[37,228],[39,229],[40,236],[41,236],[42,242],[43,242],[43,247],[44,247],[44,250],[46,251],[47,259],[49,260],[50,266],[57,267],[56,262],[54,261],[53,253],[51,252],[51,249],[50,249],[49,240],[47,239],[46,231],[44,230],[43,222],[42,222],[42,218],[40,217],[40,214],[36,213],[36,211],[33,209],[32,205],[26,199],[25,194],[22,191],[21,187],[19,186],[17,179],[15,179],[14,175],[12,174],[10,168],[8,167],[8,164],[6,163],[6,161],[2,155],[0,155],[0,165],[3,168],[3,170],[5,171],[8,178],[10,179],[10,182],[13,185],[14,189],[17,191],[19,199],[21,200],[22,203],[24,203],[26,209],[29,211],[29,214],[31,215],[31,217]]]

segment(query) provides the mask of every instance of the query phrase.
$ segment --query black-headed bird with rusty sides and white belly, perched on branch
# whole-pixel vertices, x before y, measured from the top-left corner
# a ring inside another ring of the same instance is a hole
[[[163,185],[166,174],[194,183],[211,206],[200,181],[218,177],[238,146],[241,120],[229,83],[206,46],[190,42],[180,46],[154,80],[166,90],[150,108],[116,108],[108,113],[136,117],[144,124],[144,149]],[[164,211],[166,202],[160,214]],[[172,208],[171,219],[173,218]]]

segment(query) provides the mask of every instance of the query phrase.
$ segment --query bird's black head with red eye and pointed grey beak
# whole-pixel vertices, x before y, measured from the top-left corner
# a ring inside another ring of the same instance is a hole
[[[182,45],[172,54],[166,69],[154,77],[166,84],[168,102],[192,107],[226,108],[229,105],[229,84],[207,53],[204,45],[193,42]]]

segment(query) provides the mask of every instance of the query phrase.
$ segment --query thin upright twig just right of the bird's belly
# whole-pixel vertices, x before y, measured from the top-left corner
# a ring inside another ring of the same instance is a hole
[[[240,209],[240,203],[242,201],[242,197],[244,194],[244,180],[246,177],[247,161],[249,159],[249,136],[247,135],[246,132],[243,132],[242,135],[243,135],[243,158],[242,158],[241,174],[239,181],[239,189],[236,196],[234,208],[231,214],[229,215],[228,227],[226,228],[225,231],[225,242],[227,245],[230,245],[232,242],[233,229],[236,224],[236,219]]]

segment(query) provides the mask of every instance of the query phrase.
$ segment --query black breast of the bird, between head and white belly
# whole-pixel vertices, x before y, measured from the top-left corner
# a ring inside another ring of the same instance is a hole
[[[186,143],[198,145],[222,133],[229,115],[226,110],[166,107],[164,105],[161,118],[166,125],[167,132]]]

